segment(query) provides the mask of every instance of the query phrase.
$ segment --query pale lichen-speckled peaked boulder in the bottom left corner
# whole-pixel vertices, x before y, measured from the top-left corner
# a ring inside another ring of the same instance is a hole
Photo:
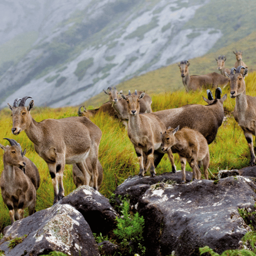
[[[13,249],[8,248],[10,239],[27,237]],[[99,256],[93,233],[79,211],[70,205],[57,204],[48,209],[15,221],[6,228],[0,241],[0,250],[7,256],[36,256],[51,251],[68,255]]]

